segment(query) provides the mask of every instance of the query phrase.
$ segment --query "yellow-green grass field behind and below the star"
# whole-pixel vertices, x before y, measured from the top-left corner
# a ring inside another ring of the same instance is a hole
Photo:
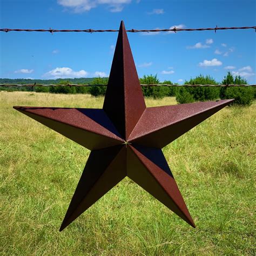
[[[255,103],[225,107],[163,149],[196,228],[125,178],[63,232],[90,151],[12,106],[101,108],[103,98],[0,92],[0,104],[2,255],[255,255]]]

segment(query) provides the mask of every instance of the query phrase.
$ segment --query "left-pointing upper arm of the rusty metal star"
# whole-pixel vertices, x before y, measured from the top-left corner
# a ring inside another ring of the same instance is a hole
[[[14,108],[90,150],[124,141],[102,109]]]

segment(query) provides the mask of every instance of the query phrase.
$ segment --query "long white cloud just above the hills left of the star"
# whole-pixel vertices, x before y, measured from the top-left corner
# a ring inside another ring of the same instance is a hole
[[[80,77],[86,77],[88,75],[88,72],[85,70],[79,70],[74,71],[70,68],[56,68],[53,70],[50,70],[49,72],[45,73],[43,77],[49,77],[52,79],[57,78],[80,78]]]

